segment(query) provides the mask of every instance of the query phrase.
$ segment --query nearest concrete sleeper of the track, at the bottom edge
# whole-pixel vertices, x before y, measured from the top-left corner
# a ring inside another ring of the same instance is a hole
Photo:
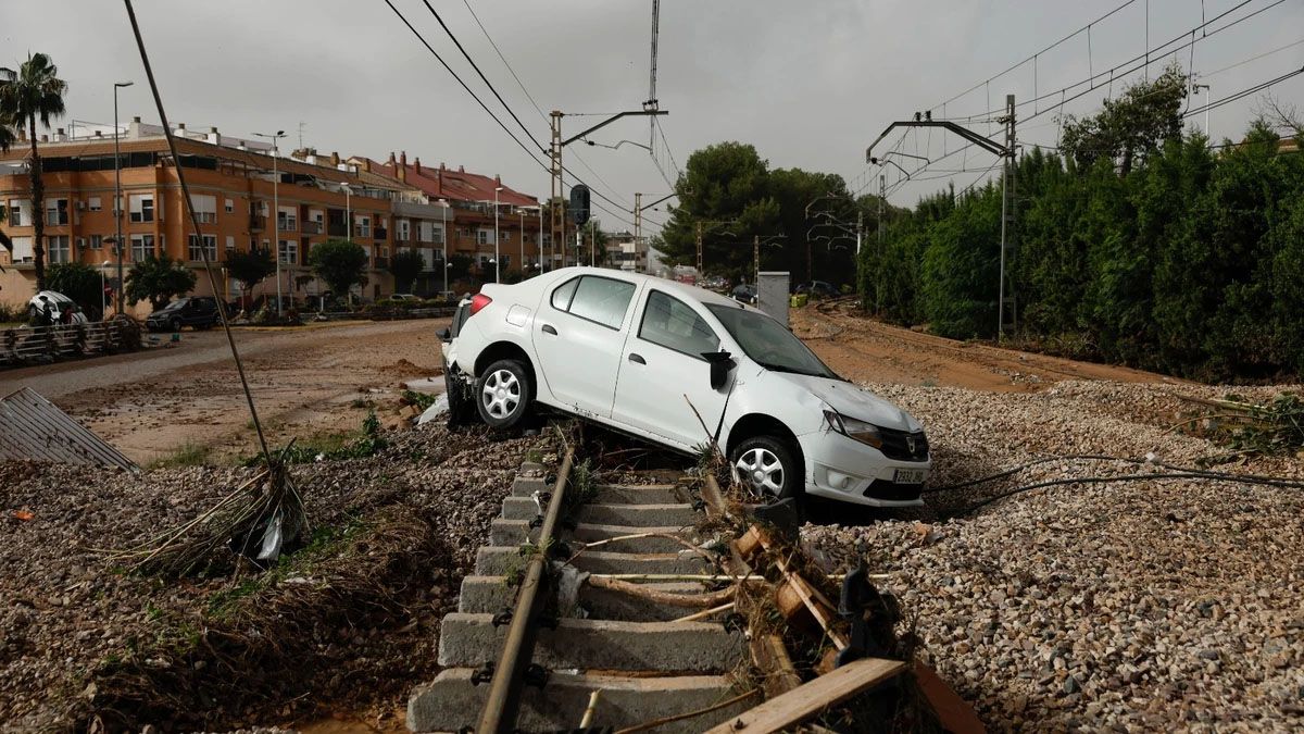
[[[542,688],[526,687],[520,718],[524,731],[566,731],[579,724],[578,713],[588,696],[602,691],[595,725],[621,729],[656,718],[702,710],[738,691],[722,675],[683,675],[673,678],[621,678],[614,675],[574,675],[554,673]],[[484,709],[489,686],[472,686],[471,670],[456,667],[439,673],[433,682],[419,686],[408,699],[407,725],[411,731],[458,731],[475,726]],[[745,700],[728,708],[659,726],[659,733],[689,734],[705,731],[754,705]]]

